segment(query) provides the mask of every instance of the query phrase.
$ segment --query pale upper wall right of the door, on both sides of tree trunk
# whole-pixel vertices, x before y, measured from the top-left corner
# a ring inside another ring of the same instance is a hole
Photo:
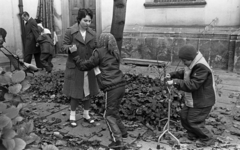
[[[205,26],[218,18],[218,26],[240,25],[239,0],[206,0],[205,6],[144,7],[145,1],[128,0],[125,25]],[[102,27],[111,25],[113,1],[101,0]]]

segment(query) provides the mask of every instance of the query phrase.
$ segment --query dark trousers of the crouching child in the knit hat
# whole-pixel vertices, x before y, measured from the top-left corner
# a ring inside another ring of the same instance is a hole
[[[184,106],[181,110],[181,123],[187,130],[188,135],[195,136],[199,140],[209,140],[213,137],[205,127],[205,120],[208,117],[212,106],[205,108],[191,108]]]

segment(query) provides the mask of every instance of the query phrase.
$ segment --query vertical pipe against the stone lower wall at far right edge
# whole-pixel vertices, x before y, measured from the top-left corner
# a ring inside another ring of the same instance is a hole
[[[228,46],[228,72],[233,72],[236,40],[237,35],[231,34]]]

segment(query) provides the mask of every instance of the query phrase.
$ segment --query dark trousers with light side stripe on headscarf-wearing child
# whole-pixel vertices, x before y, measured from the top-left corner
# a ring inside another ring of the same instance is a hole
[[[106,120],[114,142],[122,141],[122,135],[127,133],[119,115],[119,108],[124,94],[125,86],[112,89],[105,93],[104,119]]]

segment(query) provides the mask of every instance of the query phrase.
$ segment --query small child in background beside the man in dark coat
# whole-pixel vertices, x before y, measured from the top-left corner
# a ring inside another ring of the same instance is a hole
[[[46,72],[49,74],[52,72],[53,68],[53,39],[51,37],[51,32],[49,29],[43,28],[41,25],[38,24],[38,30],[41,33],[41,35],[37,39],[37,43],[39,44],[41,49],[40,61],[43,64],[43,67],[46,69]]]

